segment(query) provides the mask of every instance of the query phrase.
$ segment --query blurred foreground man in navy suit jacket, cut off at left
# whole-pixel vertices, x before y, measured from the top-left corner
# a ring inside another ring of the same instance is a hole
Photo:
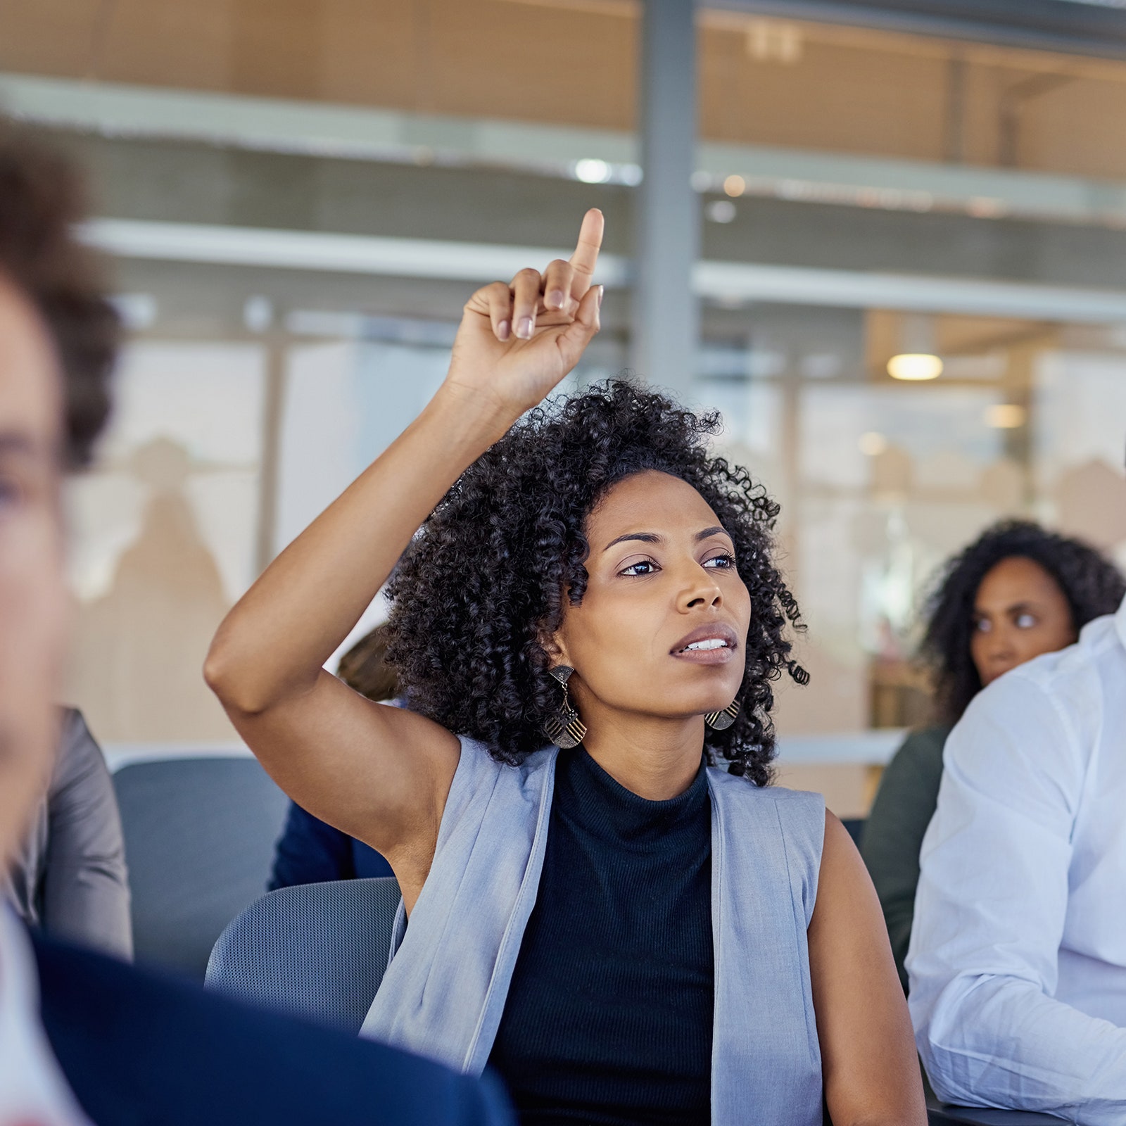
[[[69,166],[0,124],[0,866],[59,745],[61,488],[109,410],[117,318]],[[30,935],[0,903],[0,1123],[503,1126],[492,1082]]]

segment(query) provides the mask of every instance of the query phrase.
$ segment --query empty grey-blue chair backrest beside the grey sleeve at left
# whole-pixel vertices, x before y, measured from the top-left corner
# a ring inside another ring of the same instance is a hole
[[[136,956],[203,981],[220,932],[266,891],[288,801],[251,758],[137,762],[114,788]]]

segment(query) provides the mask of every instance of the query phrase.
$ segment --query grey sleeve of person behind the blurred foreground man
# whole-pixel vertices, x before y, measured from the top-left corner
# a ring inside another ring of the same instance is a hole
[[[133,956],[125,841],[114,784],[81,713],[68,711],[47,795],[43,929]]]

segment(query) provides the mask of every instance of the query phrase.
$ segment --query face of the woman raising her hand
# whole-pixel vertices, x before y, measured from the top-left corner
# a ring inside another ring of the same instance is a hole
[[[587,539],[587,592],[555,637],[580,713],[683,718],[731,704],[751,596],[704,498],[678,477],[635,474],[590,513]]]

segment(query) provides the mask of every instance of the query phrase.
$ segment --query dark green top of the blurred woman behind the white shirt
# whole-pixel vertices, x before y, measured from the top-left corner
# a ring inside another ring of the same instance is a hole
[[[879,781],[876,799],[860,834],[860,855],[876,885],[903,989],[903,959],[911,941],[914,893],[919,885],[919,849],[938,805],[942,747],[949,727],[913,731],[895,752]]]

